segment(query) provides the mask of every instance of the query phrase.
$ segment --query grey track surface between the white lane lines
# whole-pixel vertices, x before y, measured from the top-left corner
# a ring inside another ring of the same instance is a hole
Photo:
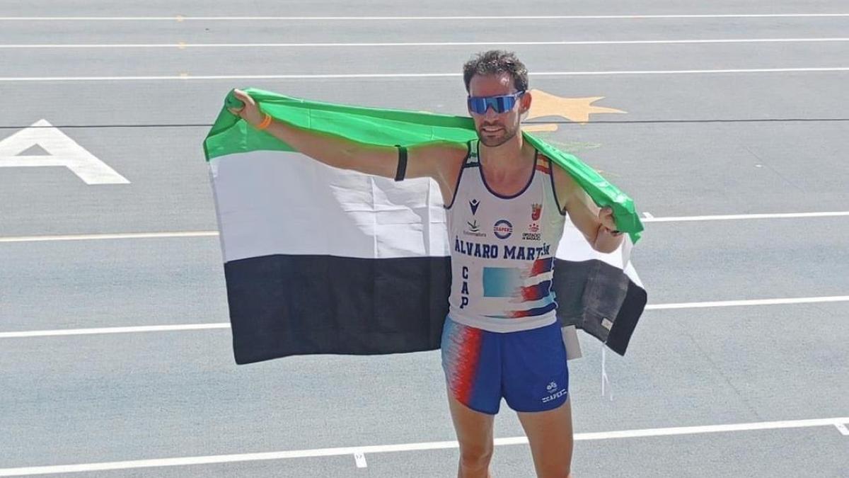
[[[486,45],[205,47],[192,43],[452,43],[838,38],[849,16],[542,20],[191,20],[208,16],[846,14],[828,2],[3,3],[0,147],[45,119],[126,177],[0,168],[0,333],[228,322],[214,236],[20,242],[21,236],[216,230],[200,142],[230,88],[464,114],[457,74]],[[178,18],[178,15],[184,18]],[[168,17],[8,20],[6,17]],[[57,48],[59,44],[176,44]],[[53,45],[32,48],[32,45]],[[849,67],[849,42],[503,45],[531,87],[626,113],[541,133],[657,218],[849,210],[849,71],[610,71]],[[540,72],[593,71],[593,75]],[[183,79],[168,79],[185,74]],[[197,76],[229,76],[193,79]],[[44,78],[53,79],[44,79]],[[88,77],[89,79],[70,79]],[[112,77],[96,79],[94,77]],[[166,77],[128,79],[126,77]],[[5,78],[5,79],[4,79]],[[8,81],[9,78],[18,78]],[[21,79],[28,78],[28,79]],[[554,128],[554,127],[549,127]],[[28,154],[38,154],[30,151]],[[849,295],[849,216],[647,222],[633,260],[650,304]],[[571,361],[578,434],[849,416],[849,303],[651,309],[626,357]],[[0,337],[4,469],[454,439],[437,352],[233,361],[227,328]],[[509,409],[496,436],[522,435]],[[576,441],[576,476],[849,476],[835,426]],[[424,449],[73,476],[450,476]],[[530,476],[526,445],[496,476]],[[65,474],[70,475],[70,474]]]

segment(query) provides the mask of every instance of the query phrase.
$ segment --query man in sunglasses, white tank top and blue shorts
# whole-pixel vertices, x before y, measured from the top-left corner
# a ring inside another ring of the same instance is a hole
[[[478,136],[466,145],[407,151],[309,132],[273,121],[239,90],[245,106],[231,111],[329,166],[436,180],[453,244],[441,349],[460,444],[458,476],[489,476],[493,418],[504,398],[518,413],[537,475],[567,477],[571,404],[551,287],[554,254],[567,216],[600,252],[616,250],[621,234],[609,208],[599,210],[520,134],[532,99],[526,67],[514,54],[478,54],[464,65],[464,82]]]

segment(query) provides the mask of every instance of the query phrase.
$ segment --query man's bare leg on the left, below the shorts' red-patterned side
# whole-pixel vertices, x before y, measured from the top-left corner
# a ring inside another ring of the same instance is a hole
[[[460,443],[458,478],[489,478],[494,415],[475,412],[448,393],[448,407]]]

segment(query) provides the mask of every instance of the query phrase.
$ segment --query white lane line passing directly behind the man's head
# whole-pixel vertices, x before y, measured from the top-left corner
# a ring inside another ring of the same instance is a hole
[[[628,75],[711,75],[722,73],[802,73],[849,71],[849,66],[810,68],[745,68],[728,70],[622,70],[622,71],[539,71],[531,77],[597,77]],[[170,80],[344,80],[382,78],[453,78],[462,73],[334,73],[303,75],[166,75],[155,77],[0,77],[0,82],[121,82]]]

